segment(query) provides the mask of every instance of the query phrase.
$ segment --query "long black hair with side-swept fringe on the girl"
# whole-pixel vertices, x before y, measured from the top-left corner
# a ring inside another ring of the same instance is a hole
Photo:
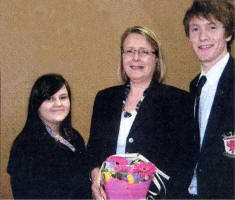
[[[46,129],[39,117],[38,109],[46,99],[54,95],[63,86],[65,86],[68,91],[68,96],[71,103],[71,91],[69,84],[60,74],[45,74],[36,80],[31,90],[28,105],[28,116],[23,132],[45,132]],[[69,114],[63,120],[60,129],[62,136],[69,141],[71,139],[70,134],[72,132],[71,107]]]

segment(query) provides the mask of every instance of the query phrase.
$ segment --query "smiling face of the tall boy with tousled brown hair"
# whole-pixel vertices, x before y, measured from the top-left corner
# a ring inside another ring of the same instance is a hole
[[[223,24],[214,18],[193,17],[189,22],[190,44],[206,71],[226,55],[230,40]]]

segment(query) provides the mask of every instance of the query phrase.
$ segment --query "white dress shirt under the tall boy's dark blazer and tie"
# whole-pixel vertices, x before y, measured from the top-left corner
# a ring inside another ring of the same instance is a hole
[[[211,112],[211,107],[214,102],[215,93],[217,90],[218,82],[224,68],[229,60],[229,53],[226,54],[219,62],[217,62],[207,73],[203,71],[203,66],[201,66],[201,76],[206,76],[207,81],[202,88],[199,103],[199,129],[200,129],[200,150],[203,144],[205,131],[208,123],[208,119]],[[197,165],[194,169],[193,179],[188,188],[190,194],[197,195],[197,175],[196,175]]]

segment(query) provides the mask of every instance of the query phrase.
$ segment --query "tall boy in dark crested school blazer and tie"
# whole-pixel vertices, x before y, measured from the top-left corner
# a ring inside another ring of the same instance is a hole
[[[226,0],[195,0],[184,28],[201,73],[192,80],[195,97],[195,165],[187,198],[234,199],[234,6]],[[199,80],[205,84],[196,95]],[[197,97],[196,97],[197,96]],[[200,99],[200,103],[197,100]]]

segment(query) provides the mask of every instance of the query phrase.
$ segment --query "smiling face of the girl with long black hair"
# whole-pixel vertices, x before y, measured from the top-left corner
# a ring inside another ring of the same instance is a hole
[[[70,111],[70,100],[68,91],[63,86],[49,99],[42,102],[38,114],[43,123],[47,126],[57,126],[67,117]]]

